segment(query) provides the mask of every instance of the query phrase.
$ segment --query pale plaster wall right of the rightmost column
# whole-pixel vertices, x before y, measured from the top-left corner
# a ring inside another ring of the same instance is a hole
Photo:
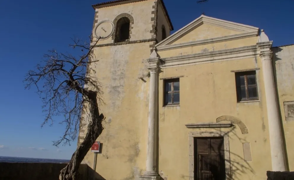
[[[294,171],[294,121],[285,118],[284,102],[294,101],[294,45],[272,48],[273,69],[277,84],[278,105],[280,107],[280,117],[282,119],[286,158],[289,170]]]

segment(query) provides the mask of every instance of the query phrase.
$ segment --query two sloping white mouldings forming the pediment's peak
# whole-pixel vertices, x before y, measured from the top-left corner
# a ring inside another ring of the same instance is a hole
[[[239,32],[255,32],[256,36],[258,36],[259,28],[248,26],[245,24],[239,24],[235,22],[229,22],[222,19],[216,19],[208,16],[201,15],[199,18],[195,19],[191,23],[187,24],[185,27],[181,28],[177,32],[173,33],[163,41],[159,42],[155,45],[156,48],[162,47],[164,45],[170,45],[172,42],[175,42],[180,37],[183,37],[191,30],[194,30],[196,27],[200,26],[203,23],[212,24],[218,27],[235,30]]]

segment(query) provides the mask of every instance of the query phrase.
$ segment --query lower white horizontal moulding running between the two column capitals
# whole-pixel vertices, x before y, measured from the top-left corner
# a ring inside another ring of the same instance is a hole
[[[196,53],[191,55],[181,55],[175,57],[162,58],[164,64],[160,68],[172,68],[180,66],[189,66],[202,63],[212,63],[227,60],[236,60],[243,58],[258,57],[258,48],[256,45],[233,48],[227,50],[212,51],[207,53]]]

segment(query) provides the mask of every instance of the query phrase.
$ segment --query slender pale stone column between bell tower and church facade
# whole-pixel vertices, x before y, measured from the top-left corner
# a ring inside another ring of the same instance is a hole
[[[148,142],[147,142],[147,157],[146,171],[141,179],[159,179],[160,176],[156,172],[156,125],[157,125],[157,99],[158,99],[158,69],[157,63],[159,57],[154,50],[148,59],[150,71],[150,87],[149,87],[149,113],[148,113]]]

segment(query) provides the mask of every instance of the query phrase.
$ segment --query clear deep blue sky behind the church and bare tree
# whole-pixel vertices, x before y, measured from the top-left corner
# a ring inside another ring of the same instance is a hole
[[[87,37],[94,9],[101,0],[9,0],[0,2],[0,156],[69,159],[76,148],[52,146],[64,127],[40,127],[44,118],[41,100],[25,90],[25,73],[47,50],[68,51],[70,37]],[[199,17],[196,0],[165,0],[175,31]],[[294,1],[209,0],[207,16],[264,29],[274,46],[294,44]],[[174,31],[174,32],[175,32]],[[147,117],[146,117],[147,118]]]

